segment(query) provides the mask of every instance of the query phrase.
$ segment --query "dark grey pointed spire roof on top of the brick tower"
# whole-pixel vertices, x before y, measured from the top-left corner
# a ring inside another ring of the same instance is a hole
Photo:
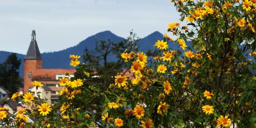
[[[35,39],[35,30],[32,31],[31,36],[32,39],[29,45],[29,49],[24,59],[42,59]]]

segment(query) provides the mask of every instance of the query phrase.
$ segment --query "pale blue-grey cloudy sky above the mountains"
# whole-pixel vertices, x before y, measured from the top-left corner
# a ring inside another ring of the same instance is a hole
[[[105,30],[124,38],[132,29],[139,37],[164,34],[178,21],[169,0],[0,0],[0,51],[26,54],[32,30],[44,53]]]

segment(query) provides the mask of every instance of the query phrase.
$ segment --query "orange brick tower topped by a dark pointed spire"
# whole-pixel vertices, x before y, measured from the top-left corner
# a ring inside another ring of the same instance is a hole
[[[38,69],[42,69],[42,58],[37,46],[35,38],[35,30],[31,34],[31,42],[27,55],[24,58],[24,94],[26,94],[31,87],[33,74],[36,74]]]

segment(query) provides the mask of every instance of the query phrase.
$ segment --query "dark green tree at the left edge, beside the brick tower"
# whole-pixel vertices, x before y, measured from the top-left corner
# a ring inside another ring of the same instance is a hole
[[[0,64],[0,85],[9,91],[9,95],[17,92],[18,87],[22,85],[22,79],[19,77],[21,61],[17,58],[16,53],[13,53]]]

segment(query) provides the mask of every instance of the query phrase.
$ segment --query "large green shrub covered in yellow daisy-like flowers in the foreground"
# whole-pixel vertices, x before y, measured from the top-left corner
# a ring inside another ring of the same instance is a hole
[[[177,39],[165,34],[156,42],[154,54],[122,53],[134,77],[117,75],[108,90],[88,82],[87,72],[83,79],[63,78],[60,86],[66,88],[59,92],[59,104],[16,93],[12,99],[23,100],[29,109],[13,116],[3,108],[0,119],[20,127],[255,126],[256,1],[172,2],[187,26],[170,23],[168,32]],[[180,49],[169,47],[173,40]],[[80,64],[80,56],[70,57],[71,66]],[[96,98],[102,112],[93,109]],[[31,124],[28,117],[37,121]]]

